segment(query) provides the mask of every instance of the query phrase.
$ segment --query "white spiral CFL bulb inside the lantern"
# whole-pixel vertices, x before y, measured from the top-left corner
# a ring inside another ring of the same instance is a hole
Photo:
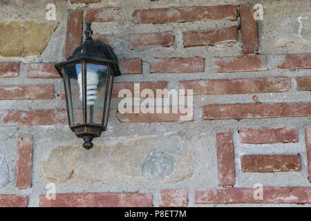
[[[94,70],[87,70],[86,73],[86,104],[94,105],[95,99],[97,99],[97,85],[99,83],[99,77]],[[82,73],[78,75],[78,84],[79,84],[79,99],[82,99]]]

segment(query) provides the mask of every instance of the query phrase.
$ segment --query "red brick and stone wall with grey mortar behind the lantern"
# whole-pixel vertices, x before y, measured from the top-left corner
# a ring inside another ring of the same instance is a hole
[[[15,33],[0,34],[0,206],[311,203],[310,1],[62,0],[56,21],[47,3],[0,2],[0,27]],[[122,71],[91,151],[67,126],[54,68],[86,21]],[[192,89],[193,117],[118,112],[135,83]]]

